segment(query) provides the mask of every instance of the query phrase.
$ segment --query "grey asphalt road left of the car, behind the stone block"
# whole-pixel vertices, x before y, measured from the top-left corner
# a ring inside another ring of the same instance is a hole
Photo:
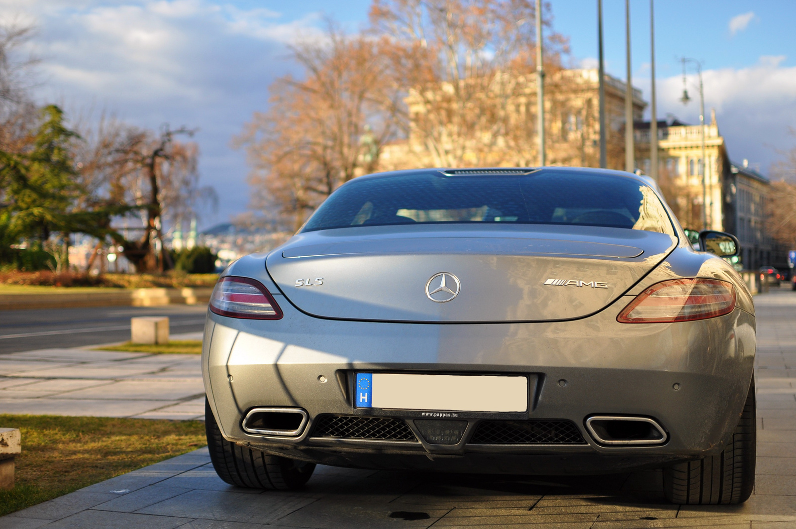
[[[0,355],[124,342],[133,316],[169,316],[172,334],[197,332],[205,327],[206,312],[204,304],[0,311]]]

